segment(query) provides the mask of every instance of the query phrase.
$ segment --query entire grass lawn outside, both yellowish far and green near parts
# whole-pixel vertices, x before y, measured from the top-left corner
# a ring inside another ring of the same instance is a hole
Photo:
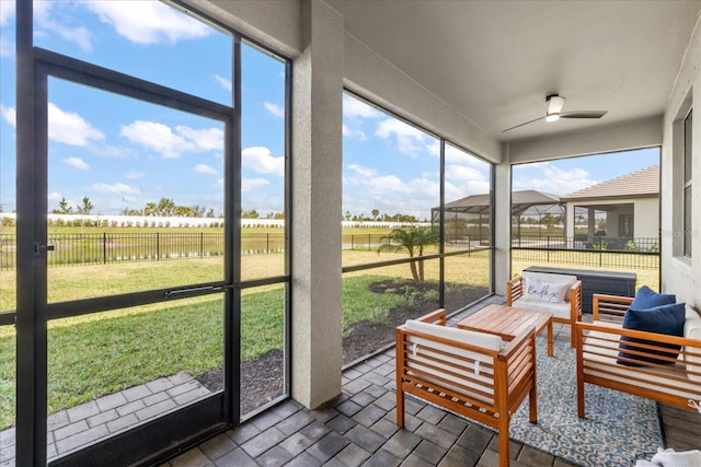
[[[405,257],[401,254],[344,252],[344,265]],[[284,255],[242,258],[245,278],[284,272]],[[438,277],[438,260],[425,264],[427,280]],[[514,261],[514,272],[531,262]],[[552,266],[552,264],[551,264]],[[563,265],[568,266],[568,265]],[[221,258],[49,269],[49,297],[62,302],[85,296],[149,290],[221,278]],[[272,272],[275,271],[275,272]],[[657,284],[657,271],[636,271],[639,285]],[[394,265],[343,277],[343,326],[383,319],[405,297],[376,294],[372,282],[411,278],[407,265]],[[489,284],[489,254],[446,258],[446,281]],[[0,272],[0,310],[14,310],[14,271]],[[185,371],[199,375],[222,362],[221,295],[57,319],[48,326],[49,413],[115,390]],[[242,360],[250,361],[284,342],[284,289],[267,285],[242,291]],[[0,327],[0,429],[14,423],[14,327]]]

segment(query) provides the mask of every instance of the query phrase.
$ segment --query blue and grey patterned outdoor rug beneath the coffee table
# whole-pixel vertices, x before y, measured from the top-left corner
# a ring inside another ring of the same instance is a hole
[[[568,341],[553,345],[548,357],[544,334],[537,339],[538,423],[529,423],[524,399],[512,440],[586,467],[630,467],[636,455],[663,446],[657,404],[648,399],[587,384],[587,418],[579,419],[575,351]]]

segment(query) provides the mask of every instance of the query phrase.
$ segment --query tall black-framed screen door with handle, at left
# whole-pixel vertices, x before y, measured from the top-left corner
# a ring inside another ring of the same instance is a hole
[[[18,215],[33,220],[18,230],[32,249],[18,365],[33,369],[18,430],[46,429],[32,451],[51,465],[157,459],[239,417],[235,117],[37,54],[34,156],[18,165]]]

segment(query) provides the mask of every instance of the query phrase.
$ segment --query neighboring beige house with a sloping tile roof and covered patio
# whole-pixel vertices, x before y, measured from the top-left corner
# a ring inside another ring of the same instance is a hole
[[[587,237],[650,238],[659,235],[659,165],[653,165],[560,198],[566,203],[566,232],[575,233],[575,217],[586,210]],[[578,209],[577,209],[578,208]],[[606,230],[597,229],[597,212]]]

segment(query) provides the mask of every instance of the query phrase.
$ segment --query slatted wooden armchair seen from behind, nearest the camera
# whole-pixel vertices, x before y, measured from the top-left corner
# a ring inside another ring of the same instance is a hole
[[[437,310],[418,320],[445,326],[446,311]],[[415,343],[417,339],[421,346]],[[448,352],[447,347],[456,352]],[[475,364],[478,358],[466,357],[466,353],[479,355],[479,362]],[[536,389],[533,329],[518,336],[501,351],[494,351],[412,331],[404,325],[397,328],[397,424],[400,428],[404,427],[404,394],[414,395],[496,429],[499,466],[507,467],[510,418],[529,396],[529,421],[537,422]]]

